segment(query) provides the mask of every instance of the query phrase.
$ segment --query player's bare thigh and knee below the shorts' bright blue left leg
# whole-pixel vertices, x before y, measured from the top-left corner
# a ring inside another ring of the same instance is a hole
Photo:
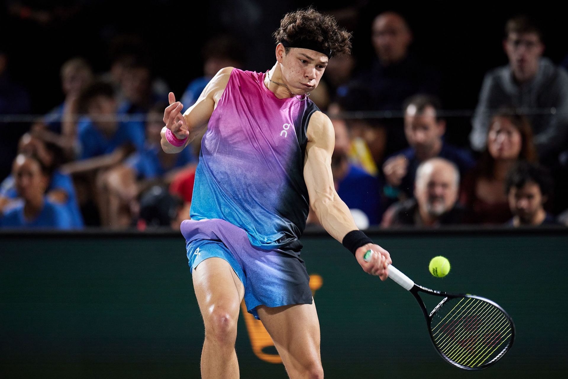
[[[193,269],[193,287],[206,334],[232,338],[245,290],[231,265],[218,257],[203,260]]]

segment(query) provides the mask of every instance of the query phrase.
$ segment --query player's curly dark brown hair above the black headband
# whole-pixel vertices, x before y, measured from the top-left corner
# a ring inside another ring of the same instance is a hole
[[[337,25],[333,16],[324,15],[314,8],[287,13],[273,34],[276,43],[310,40],[331,50],[332,56],[351,53],[351,33]],[[290,48],[286,48],[286,53]]]

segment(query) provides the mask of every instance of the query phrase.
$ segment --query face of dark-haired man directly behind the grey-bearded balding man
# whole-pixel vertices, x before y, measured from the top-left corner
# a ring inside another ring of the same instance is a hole
[[[419,153],[427,154],[441,143],[445,131],[444,122],[436,120],[436,110],[433,107],[426,107],[419,114],[413,112],[412,107],[408,106],[404,115],[404,134],[412,148]]]

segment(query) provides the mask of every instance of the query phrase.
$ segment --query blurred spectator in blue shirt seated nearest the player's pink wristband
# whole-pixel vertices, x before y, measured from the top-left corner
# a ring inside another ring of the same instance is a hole
[[[132,224],[139,212],[139,194],[152,185],[169,185],[182,169],[197,164],[191,145],[178,154],[167,154],[161,148],[161,130],[164,127],[164,109],[167,103],[157,103],[147,115],[147,143],[133,153],[122,165],[109,170],[99,188],[103,225],[124,228]]]

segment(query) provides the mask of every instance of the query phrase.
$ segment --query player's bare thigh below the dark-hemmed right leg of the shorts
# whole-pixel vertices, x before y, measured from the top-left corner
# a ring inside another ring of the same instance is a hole
[[[315,302],[282,307],[257,307],[287,369],[321,366],[320,327]]]

